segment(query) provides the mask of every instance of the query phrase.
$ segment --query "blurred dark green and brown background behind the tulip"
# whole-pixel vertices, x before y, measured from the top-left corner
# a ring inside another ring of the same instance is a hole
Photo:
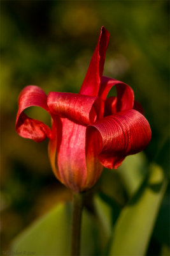
[[[40,86],[47,94],[77,93],[101,26],[111,35],[104,75],[120,79],[134,90],[152,128],[146,158],[148,162],[157,159],[167,172],[168,15],[168,1],[1,1],[2,250],[53,204],[71,199],[69,190],[50,170],[48,141],[35,143],[15,132],[17,97],[29,84]],[[45,111],[28,111],[50,123]],[[169,221],[167,195],[161,210],[165,223]],[[159,252],[160,244],[166,243],[159,238],[167,224],[159,223],[159,236],[152,236],[148,255],[156,255],[155,250]]]

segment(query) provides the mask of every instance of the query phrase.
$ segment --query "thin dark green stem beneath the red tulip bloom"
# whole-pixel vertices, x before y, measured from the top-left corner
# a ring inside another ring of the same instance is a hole
[[[81,216],[84,193],[73,194],[73,216],[71,225],[71,256],[80,255]]]

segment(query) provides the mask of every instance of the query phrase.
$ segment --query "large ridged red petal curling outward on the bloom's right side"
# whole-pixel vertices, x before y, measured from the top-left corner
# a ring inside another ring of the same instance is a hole
[[[124,158],[143,150],[151,139],[150,125],[134,109],[107,116],[87,127],[87,137],[96,136],[99,160],[106,168],[118,168]]]

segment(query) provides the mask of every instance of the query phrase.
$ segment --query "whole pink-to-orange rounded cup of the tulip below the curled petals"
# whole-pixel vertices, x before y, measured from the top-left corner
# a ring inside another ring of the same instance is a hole
[[[92,144],[90,150],[94,148],[94,151],[91,154],[90,150],[87,150],[90,157],[87,154],[86,162],[86,127],[75,124],[67,118],[61,118],[62,122],[55,118],[53,120],[53,136],[48,147],[53,172],[62,184],[76,193],[91,188],[103,169],[99,159],[96,157],[93,160],[91,157],[94,156],[96,150],[96,145],[93,144],[96,142],[94,136],[90,140]]]

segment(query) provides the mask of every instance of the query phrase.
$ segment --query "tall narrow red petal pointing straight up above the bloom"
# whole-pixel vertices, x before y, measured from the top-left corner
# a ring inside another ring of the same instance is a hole
[[[104,60],[109,38],[110,33],[106,30],[106,28],[102,27],[96,49],[80,89],[81,94],[97,96],[103,75]]]

